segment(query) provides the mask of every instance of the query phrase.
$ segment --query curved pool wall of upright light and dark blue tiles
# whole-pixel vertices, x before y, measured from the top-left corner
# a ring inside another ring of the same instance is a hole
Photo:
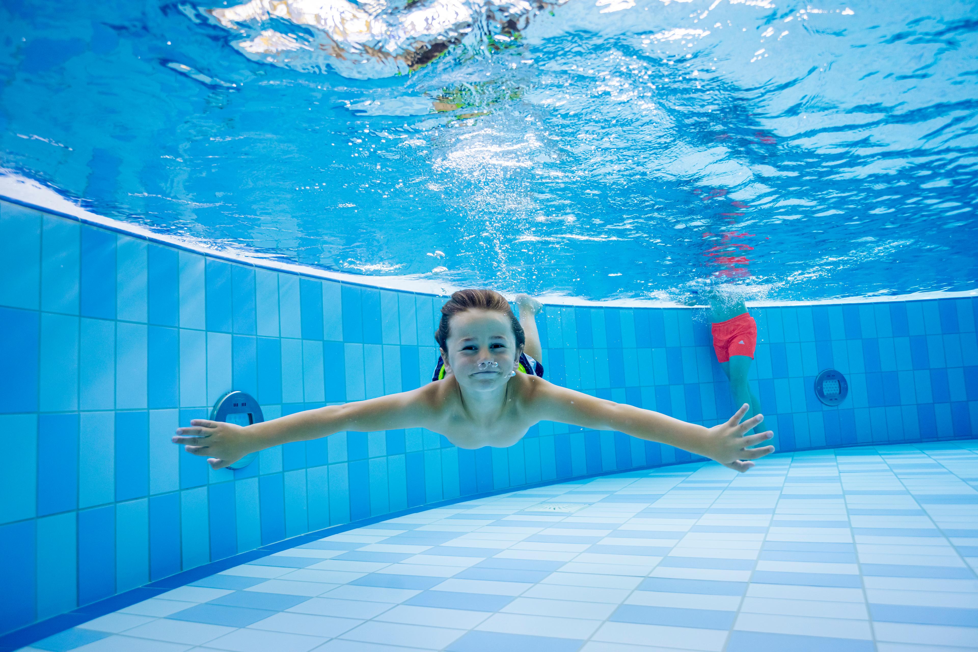
[[[444,297],[232,264],[0,201],[0,632],[237,552],[438,500],[689,455],[542,423],[509,449],[337,433],[213,471],[169,443],[230,389],[267,418],[418,387]],[[972,436],[973,298],[752,310],[781,451]],[[687,309],[548,307],[557,383],[711,425],[731,413]],[[815,375],[847,374],[825,408]]]

